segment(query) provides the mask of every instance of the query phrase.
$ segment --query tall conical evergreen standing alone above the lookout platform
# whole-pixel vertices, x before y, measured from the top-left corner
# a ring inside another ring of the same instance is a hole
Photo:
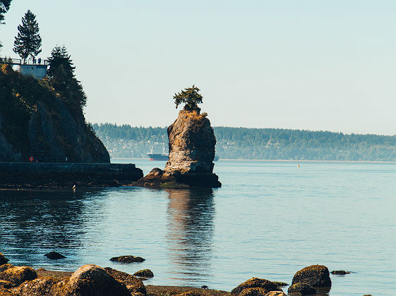
[[[35,57],[41,52],[41,37],[39,35],[39,25],[36,16],[28,11],[22,18],[22,25],[18,25],[18,36],[13,42],[13,51],[19,54],[23,61],[28,56]]]

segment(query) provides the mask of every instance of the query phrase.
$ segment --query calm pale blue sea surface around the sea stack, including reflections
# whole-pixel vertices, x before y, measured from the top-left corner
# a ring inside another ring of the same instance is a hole
[[[135,163],[146,174],[162,161]],[[217,161],[222,188],[0,191],[0,252],[14,265],[134,273],[153,285],[231,290],[253,276],[291,283],[311,264],[330,295],[395,295],[396,164]],[[67,259],[50,261],[56,250]],[[133,254],[140,264],[115,264]],[[287,288],[284,288],[287,290]]]

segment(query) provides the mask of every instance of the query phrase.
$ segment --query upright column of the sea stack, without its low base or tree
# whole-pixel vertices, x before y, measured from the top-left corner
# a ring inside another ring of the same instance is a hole
[[[169,161],[166,172],[212,173],[216,138],[208,118],[181,110],[168,128]]]

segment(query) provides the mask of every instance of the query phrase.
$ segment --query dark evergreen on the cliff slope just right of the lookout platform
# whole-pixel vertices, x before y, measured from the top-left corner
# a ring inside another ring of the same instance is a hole
[[[87,104],[87,97],[74,75],[73,61],[65,46],[54,47],[49,61],[49,82],[57,94],[70,106],[83,108]]]

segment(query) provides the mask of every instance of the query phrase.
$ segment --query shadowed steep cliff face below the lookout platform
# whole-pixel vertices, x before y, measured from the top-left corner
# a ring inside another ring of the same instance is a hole
[[[109,153],[85,123],[80,106],[67,104],[45,81],[0,71],[0,161],[109,163]]]

